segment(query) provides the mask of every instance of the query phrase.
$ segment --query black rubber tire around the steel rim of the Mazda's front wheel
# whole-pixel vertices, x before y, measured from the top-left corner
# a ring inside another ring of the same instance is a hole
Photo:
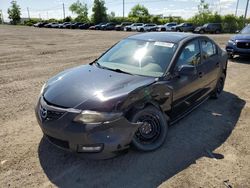
[[[140,150],[140,151],[153,151],[156,150],[157,148],[159,148],[165,141],[166,137],[167,137],[167,132],[168,132],[168,122],[167,122],[167,118],[165,117],[165,115],[158,110],[157,108],[153,107],[153,106],[148,106],[142,110],[137,111],[133,117],[131,118],[132,122],[137,122],[137,120],[139,119],[139,117],[141,117],[144,114],[148,114],[148,113],[152,113],[155,114],[159,121],[160,121],[160,135],[157,138],[157,140],[154,143],[151,144],[142,144],[139,143],[138,140],[133,137],[132,139],[132,146],[134,146],[136,149]]]

